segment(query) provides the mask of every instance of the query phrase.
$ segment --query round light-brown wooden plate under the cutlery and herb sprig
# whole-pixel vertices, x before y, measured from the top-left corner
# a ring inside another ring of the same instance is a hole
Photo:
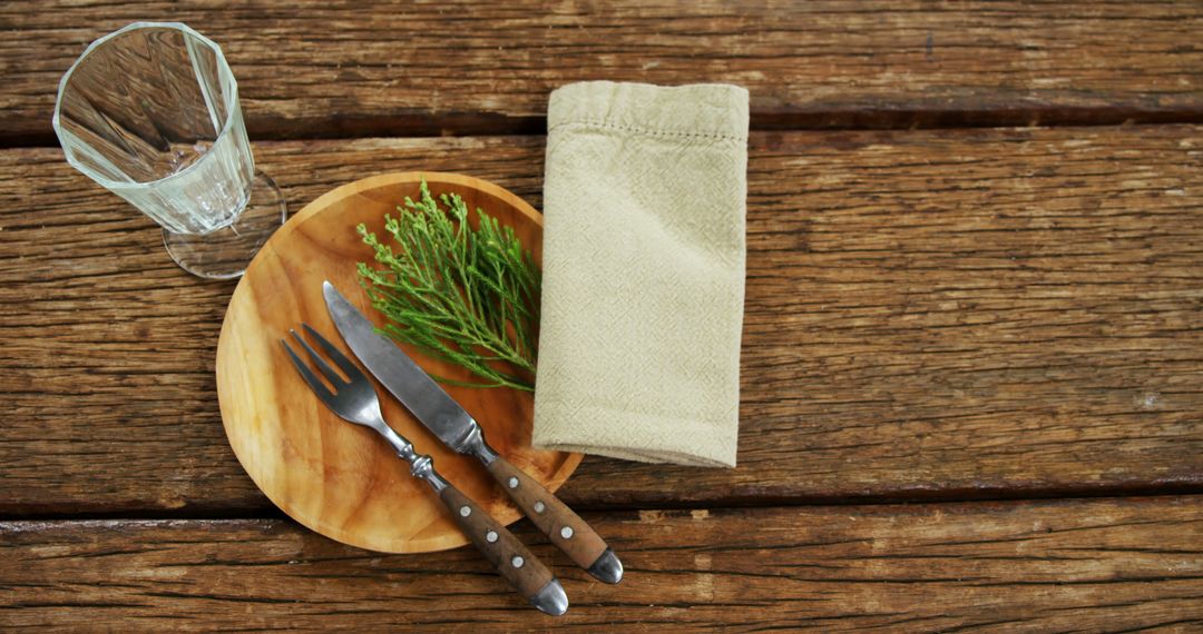
[[[355,232],[360,222],[380,235],[384,215],[416,198],[425,178],[431,192],[463,196],[514,227],[541,264],[543,216],[517,196],[470,177],[410,172],[367,178],[318,198],[263,245],[230,299],[218,343],[218,400],[226,436],[255,484],[284,513],[345,544],[385,552],[444,550],[468,540],[429,488],[369,429],[327,409],[297,375],[280,346],[289,328],[314,327],[351,359],[326,312],[322,280],[330,280],[377,325],[355,265],[372,250]],[[405,348],[403,346],[403,348]],[[428,372],[469,378],[462,370],[405,348]],[[361,365],[362,367],[362,365]],[[371,375],[369,375],[371,376]],[[450,451],[379,383],[385,420],[435,468],[503,524],[518,510],[474,457]],[[490,444],[555,491],[581,461],[580,454],[531,447],[533,396],[510,389],[446,387],[485,430]]]

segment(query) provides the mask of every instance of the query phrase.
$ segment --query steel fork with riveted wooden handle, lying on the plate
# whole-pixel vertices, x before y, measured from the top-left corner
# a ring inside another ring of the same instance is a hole
[[[318,395],[321,402],[326,403],[336,414],[349,423],[371,427],[377,433],[384,436],[397,455],[409,462],[409,473],[415,478],[421,478],[431,485],[438,494],[439,500],[451,513],[460,530],[472,539],[480,552],[493,564],[493,568],[505,578],[520,594],[531,602],[540,611],[559,616],[568,611],[568,596],[564,594],[559,580],[551,574],[551,570],[543,564],[527,548],[518,542],[497,520],[480,509],[468,496],[444,480],[434,471],[434,461],[428,455],[420,455],[414,450],[414,445],[403,436],[397,433],[384,421],[380,413],[380,399],[375,388],[368,382],[368,377],[352,364],[345,354],[338,351],[333,343],[326,341],[309,324],[302,323],[302,328],[309,337],[318,342],[338,369],[346,376],[344,379],[333,367],[326,363],[318,351],[290,329],[292,339],[300,343],[318,370],[330,382],[327,388],[313,370],[301,360],[301,357],[289,346],[288,341],[280,340],[292,365],[301,372],[301,377],[309,384],[309,388]]]

